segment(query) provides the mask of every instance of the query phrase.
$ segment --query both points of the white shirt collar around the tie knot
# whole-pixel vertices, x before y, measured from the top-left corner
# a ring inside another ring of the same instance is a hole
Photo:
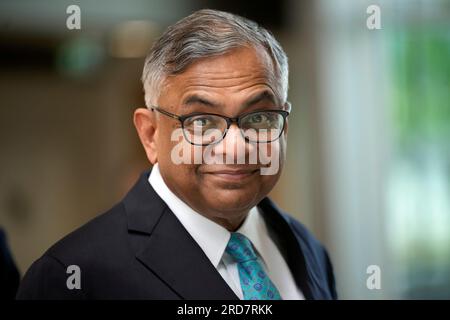
[[[153,166],[148,182],[175,214],[195,242],[197,242],[214,267],[217,268],[230,240],[230,232],[221,225],[196,212],[183,200],[178,198],[165,183],[161,176],[158,163]],[[249,211],[244,223],[236,232],[242,233],[250,239],[256,248],[257,254],[264,262],[264,257],[267,257],[266,241],[268,238],[265,236],[267,229],[263,219],[260,217],[258,208],[253,207]]]

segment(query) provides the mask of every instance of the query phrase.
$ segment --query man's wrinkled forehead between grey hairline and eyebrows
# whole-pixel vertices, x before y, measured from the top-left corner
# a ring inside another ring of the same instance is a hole
[[[239,96],[269,90],[275,96],[273,63],[266,50],[238,48],[226,54],[199,59],[180,74],[169,76],[161,97],[182,99],[193,92]]]

